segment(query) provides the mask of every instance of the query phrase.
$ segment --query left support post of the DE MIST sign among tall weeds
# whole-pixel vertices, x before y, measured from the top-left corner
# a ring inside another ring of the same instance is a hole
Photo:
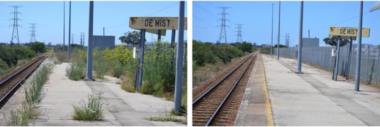
[[[140,34],[140,64],[138,66],[138,76],[137,76],[137,86],[136,90],[139,91],[141,88],[141,83],[142,83],[142,64],[144,62],[144,47],[145,47],[145,29],[141,29],[141,34]]]

